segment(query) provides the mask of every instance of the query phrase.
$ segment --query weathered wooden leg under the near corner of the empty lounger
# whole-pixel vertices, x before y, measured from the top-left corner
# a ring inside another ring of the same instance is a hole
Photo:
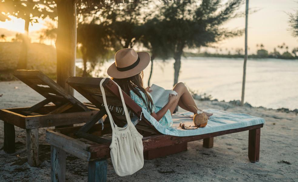
[[[38,128],[26,129],[27,158],[30,166],[39,165]]]

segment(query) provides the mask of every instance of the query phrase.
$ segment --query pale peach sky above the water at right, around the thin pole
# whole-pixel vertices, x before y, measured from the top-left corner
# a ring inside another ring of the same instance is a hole
[[[258,12],[248,16],[249,54],[255,54],[256,45],[261,43],[268,51],[273,51],[273,48],[283,42],[289,46],[289,50],[298,47],[298,39],[291,35],[288,22],[288,13],[294,13],[298,10],[298,3],[295,0],[249,0],[249,8],[259,9]],[[245,11],[245,5],[240,9]],[[230,20],[224,26],[227,28],[245,28],[245,18]],[[244,35],[227,39],[217,46],[244,49]]]

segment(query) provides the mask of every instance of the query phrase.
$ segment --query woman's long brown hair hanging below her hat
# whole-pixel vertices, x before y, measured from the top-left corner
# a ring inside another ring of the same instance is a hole
[[[153,101],[151,99],[151,97],[149,96],[149,94],[147,93],[147,91],[145,90],[145,88],[143,88],[143,71],[140,72],[139,74],[136,74],[132,77],[129,78],[112,78],[113,81],[115,81],[120,88],[127,94],[130,95],[130,91],[132,90],[137,96],[139,96],[139,98],[141,98],[143,100],[144,103],[147,103],[148,105],[147,110],[150,111],[150,113],[153,112]],[[145,99],[142,97],[140,91],[142,91],[145,96],[146,96],[146,101]]]

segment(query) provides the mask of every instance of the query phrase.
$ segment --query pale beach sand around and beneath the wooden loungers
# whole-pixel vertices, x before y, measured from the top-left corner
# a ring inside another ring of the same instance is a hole
[[[20,81],[0,82],[0,108],[32,106],[43,99]],[[80,101],[86,101],[75,93]],[[197,101],[199,108],[215,108],[246,113],[266,120],[261,129],[260,161],[250,163],[248,131],[214,138],[214,147],[203,148],[203,141],[188,143],[188,151],[154,160],[131,176],[119,177],[108,159],[108,181],[298,181],[298,116],[266,108],[239,107],[218,101]],[[180,110],[181,111],[181,110]],[[0,151],[0,181],[50,181],[49,145],[46,128],[39,129],[41,164],[30,167],[26,161],[25,130],[15,127],[14,154]],[[3,121],[0,121],[0,146],[3,146]],[[15,164],[17,163],[17,164]],[[66,181],[87,181],[87,162],[67,154]]]

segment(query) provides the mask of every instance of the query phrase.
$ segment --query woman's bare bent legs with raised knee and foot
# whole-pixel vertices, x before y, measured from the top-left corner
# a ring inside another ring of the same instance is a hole
[[[200,110],[196,105],[196,102],[193,99],[193,96],[189,93],[188,89],[183,83],[178,83],[173,88],[174,91],[178,93],[178,98],[175,103],[169,108],[171,114],[173,114],[177,104],[187,111],[193,112],[194,114],[197,113],[197,110]],[[206,113],[205,114],[209,117],[212,114]]]

